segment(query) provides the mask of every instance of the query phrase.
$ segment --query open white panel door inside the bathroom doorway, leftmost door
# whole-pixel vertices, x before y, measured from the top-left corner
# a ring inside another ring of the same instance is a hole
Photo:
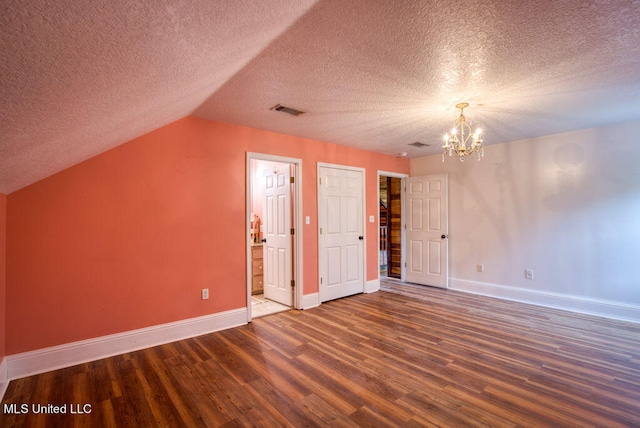
[[[289,165],[265,177],[263,208],[264,297],[287,306],[293,303],[290,177]]]

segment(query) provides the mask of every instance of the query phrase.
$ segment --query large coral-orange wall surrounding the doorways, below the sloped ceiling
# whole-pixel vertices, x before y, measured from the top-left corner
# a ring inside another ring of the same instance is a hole
[[[409,170],[406,159],[188,117],[16,191],[6,353],[244,307],[247,151],[303,159],[305,294],[318,290],[316,162],[366,168],[376,218],[377,170]],[[377,278],[376,239],[367,257]]]

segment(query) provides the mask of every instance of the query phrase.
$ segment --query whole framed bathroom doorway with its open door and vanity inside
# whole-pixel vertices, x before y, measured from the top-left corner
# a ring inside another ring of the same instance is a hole
[[[299,307],[300,182],[301,160],[247,154],[247,321]]]

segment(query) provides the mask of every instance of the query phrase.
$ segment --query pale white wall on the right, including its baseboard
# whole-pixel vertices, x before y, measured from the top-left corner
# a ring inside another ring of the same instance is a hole
[[[449,174],[451,288],[640,321],[639,150],[630,122],[412,159]]]

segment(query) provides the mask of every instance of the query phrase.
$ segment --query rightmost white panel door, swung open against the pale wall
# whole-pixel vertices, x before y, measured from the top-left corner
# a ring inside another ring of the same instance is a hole
[[[447,175],[407,178],[407,282],[447,288]]]

